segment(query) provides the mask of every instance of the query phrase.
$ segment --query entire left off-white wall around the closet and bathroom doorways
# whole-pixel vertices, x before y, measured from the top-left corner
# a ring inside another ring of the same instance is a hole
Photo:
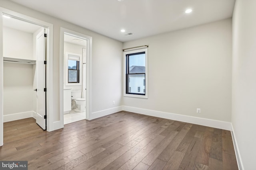
[[[88,29],[20,6],[9,0],[0,0],[3,8],[36,18],[54,25],[53,30],[53,121],[60,121],[59,57],[60,27],[92,37],[92,111],[120,106],[122,98],[122,43]],[[112,100],[116,104],[112,105]],[[62,102],[62,101],[61,101]],[[95,117],[94,117],[95,118]]]

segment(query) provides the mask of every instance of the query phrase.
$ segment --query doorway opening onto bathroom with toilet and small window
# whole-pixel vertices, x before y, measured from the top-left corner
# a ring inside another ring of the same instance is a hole
[[[63,31],[62,35],[63,91],[60,93],[63,93],[63,107],[60,110],[63,111],[60,117],[63,117],[65,125],[88,119],[88,56],[92,40],[70,30]]]

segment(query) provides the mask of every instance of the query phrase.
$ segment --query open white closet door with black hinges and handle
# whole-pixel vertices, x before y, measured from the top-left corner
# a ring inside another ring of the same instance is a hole
[[[36,123],[46,129],[46,36],[42,29],[36,36],[37,113]]]

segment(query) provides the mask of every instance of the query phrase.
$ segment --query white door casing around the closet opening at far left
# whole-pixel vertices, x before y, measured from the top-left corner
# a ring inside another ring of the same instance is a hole
[[[42,27],[47,28],[47,68],[46,68],[46,87],[47,87],[47,98],[46,98],[46,105],[47,105],[47,131],[53,131],[54,129],[54,115],[53,115],[53,24],[47,23],[42,20],[38,20],[36,18],[32,18],[30,16],[26,16],[24,14],[20,14],[18,12],[14,12],[12,10],[8,10],[6,8],[0,7],[0,146],[3,145],[3,124],[4,124],[4,113],[3,113],[3,20],[2,14],[8,14],[9,16],[13,16],[15,18],[19,18],[24,21],[28,21],[31,23],[35,23]]]

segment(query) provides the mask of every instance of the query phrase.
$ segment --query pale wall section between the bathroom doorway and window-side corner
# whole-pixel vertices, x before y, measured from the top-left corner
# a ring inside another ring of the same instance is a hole
[[[100,41],[92,37],[92,43],[92,113],[94,113],[122,105],[122,43],[107,37],[102,37]]]

